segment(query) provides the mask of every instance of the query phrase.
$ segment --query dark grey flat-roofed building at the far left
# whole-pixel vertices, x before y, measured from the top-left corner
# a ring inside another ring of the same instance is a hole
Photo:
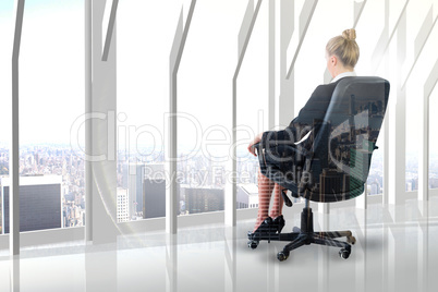
[[[20,177],[20,231],[61,228],[61,175]],[[2,232],[9,233],[10,179],[0,178]]]

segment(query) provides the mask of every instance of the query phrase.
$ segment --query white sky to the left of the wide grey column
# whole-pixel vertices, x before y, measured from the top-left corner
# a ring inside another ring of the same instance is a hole
[[[1,3],[1,102],[11,108],[14,5]],[[82,1],[26,0],[20,52],[22,144],[69,142],[69,125],[84,111],[83,48]],[[0,120],[2,142],[10,135],[10,112]]]

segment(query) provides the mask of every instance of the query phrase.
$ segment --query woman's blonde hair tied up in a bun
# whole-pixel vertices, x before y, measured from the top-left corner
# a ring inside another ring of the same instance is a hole
[[[358,46],[356,42],[356,31],[345,29],[342,35],[331,38],[326,46],[329,56],[334,54],[344,66],[354,68],[358,60]]]

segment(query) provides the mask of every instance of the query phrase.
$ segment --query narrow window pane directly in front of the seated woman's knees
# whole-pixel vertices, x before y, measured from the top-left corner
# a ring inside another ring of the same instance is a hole
[[[240,16],[239,28],[243,16],[244,11]],[[257,134],[270,130],[268,124],[270,65],[268,24],[269,2],[263,2],[236,81],[238,209],[258,207],[258,158],[248,153],[247,145]],[[245,35],[239,36],[242,46]],[[235,46],[235,54],[238,54],[238,46]],[[235,70],[235,65],[233,69]]]

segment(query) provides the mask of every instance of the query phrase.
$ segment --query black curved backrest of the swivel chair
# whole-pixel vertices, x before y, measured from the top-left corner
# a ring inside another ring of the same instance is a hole
[[[388,105],[389,83],[380,77],[344,77],[323,121],[314,121],[312,159],[304,197],[345,200],[361,195]]]

